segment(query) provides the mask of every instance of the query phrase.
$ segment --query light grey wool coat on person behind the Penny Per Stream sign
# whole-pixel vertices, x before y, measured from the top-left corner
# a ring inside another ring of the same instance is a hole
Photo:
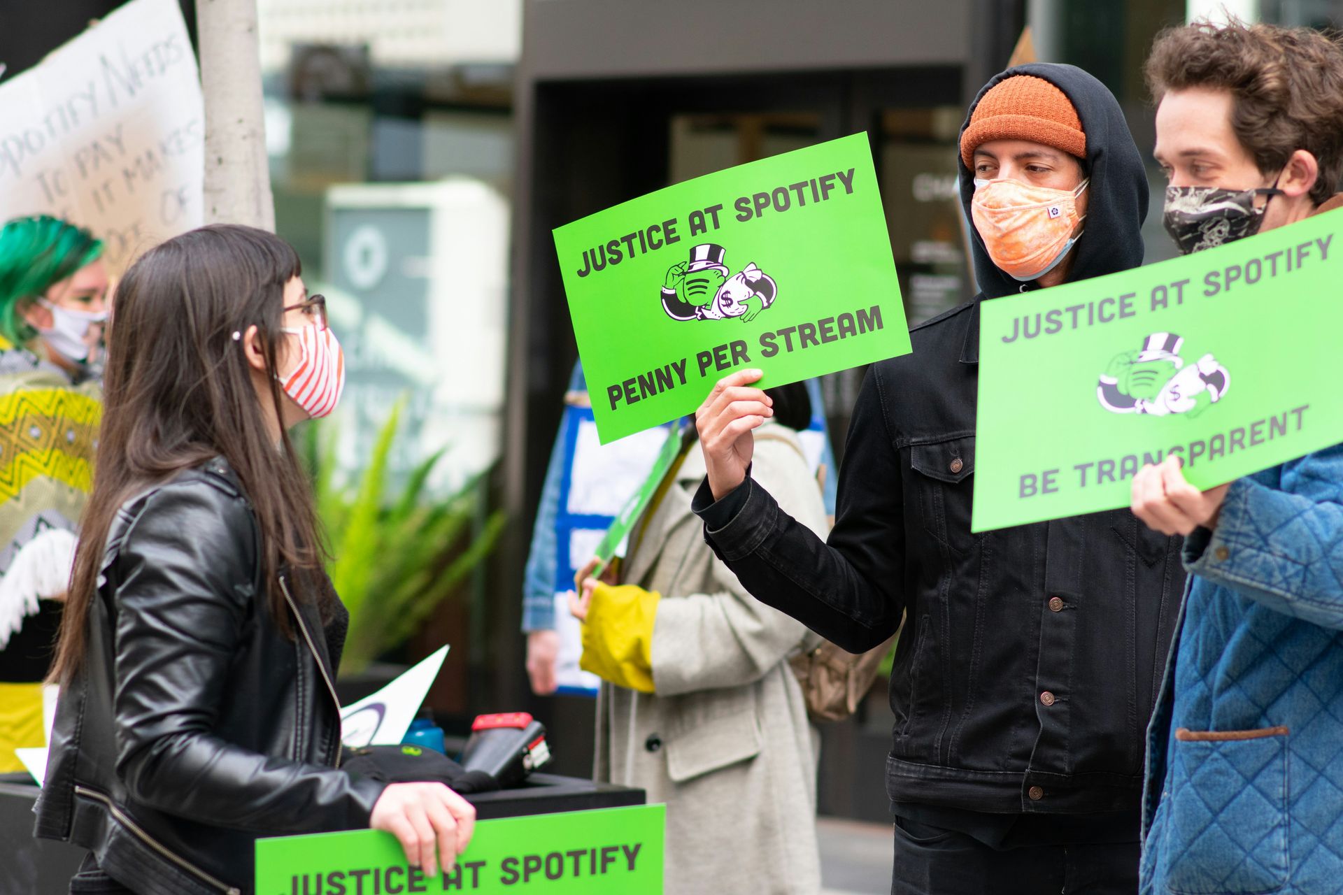
[[[821,890],[818,738],[787,657],[818,640],[752,598],[704,542],[690,511],[704,474],[696,445],[626,558],[622,582],[662,594],[655,692],[602,684],[595,777],[666,802],[666,895],[810,895]],[[752,478],[825,537],[791,429],[757,431]]]

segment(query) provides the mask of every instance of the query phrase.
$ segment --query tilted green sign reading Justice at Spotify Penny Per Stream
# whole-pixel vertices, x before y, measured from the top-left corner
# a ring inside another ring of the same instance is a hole
[[[603,443],[736,368],[770,388],[909,352],[866,134],[659,189],[555,247]]]

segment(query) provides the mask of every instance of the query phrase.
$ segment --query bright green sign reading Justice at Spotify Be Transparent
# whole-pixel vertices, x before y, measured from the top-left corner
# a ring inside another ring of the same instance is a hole
[[[1343,441],[1339,228],[983,302],[971,530],[1127,507],[1172,454],[1206,490]]]

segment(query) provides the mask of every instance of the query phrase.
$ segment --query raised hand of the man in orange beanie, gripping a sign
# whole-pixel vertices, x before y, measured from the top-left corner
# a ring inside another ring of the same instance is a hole
[[[764,376],[760,370],[737,370],[719,380],[709,397],[694,412],[700,450],[709,472],[713,499],[721,501],[747,478],[755,451],[752,429],[774,416],[774,401],[764,390],[751,388]]]

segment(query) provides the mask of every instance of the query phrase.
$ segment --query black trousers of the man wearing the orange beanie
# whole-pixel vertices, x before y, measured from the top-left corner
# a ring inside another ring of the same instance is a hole
[[[896,820],[892,895],[1133,895],[1138,843],[992,848],[941,827]]]

